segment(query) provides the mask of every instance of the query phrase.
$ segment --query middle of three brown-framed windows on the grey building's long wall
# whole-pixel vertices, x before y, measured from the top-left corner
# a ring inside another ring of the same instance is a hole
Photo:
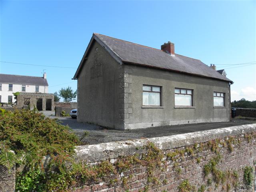
[[[175,88],[175,106],[192,106],[192,90]]]

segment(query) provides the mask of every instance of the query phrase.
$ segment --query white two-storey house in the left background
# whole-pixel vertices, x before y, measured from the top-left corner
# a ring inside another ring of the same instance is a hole
[[[15,92],[48,93],[46,73],[43,77],[0,74],[0,103],[15,102]]]

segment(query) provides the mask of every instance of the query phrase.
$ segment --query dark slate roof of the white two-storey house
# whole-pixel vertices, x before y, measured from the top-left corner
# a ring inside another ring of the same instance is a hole
[[[47,80],[44,79],[43,77],[33,77],[33,76],[24,76],[24,75],[10,75],[10,74],[0,74],[0,83],[48,86]]]

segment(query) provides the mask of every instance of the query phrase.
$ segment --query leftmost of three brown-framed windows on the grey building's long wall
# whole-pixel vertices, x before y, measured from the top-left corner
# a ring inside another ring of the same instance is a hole
[[[161,87],[143,85],[143,106],[161,106]]]

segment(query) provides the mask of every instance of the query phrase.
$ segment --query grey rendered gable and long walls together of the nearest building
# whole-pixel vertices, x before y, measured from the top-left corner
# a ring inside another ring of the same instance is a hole
[[[142,86],[162,87],[162,106],[142,106]],[[174,88],[193,90],[193,107],[174,106]],[[225,106],[213,106],[213,92]],[[94,42],[78,77],[78,122],[119,130],[196,122],[230,121],[229,82],[119,64]]]

